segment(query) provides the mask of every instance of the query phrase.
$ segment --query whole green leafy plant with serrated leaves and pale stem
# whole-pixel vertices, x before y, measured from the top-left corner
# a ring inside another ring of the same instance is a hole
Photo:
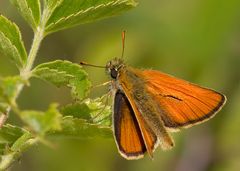
[[[89,138],[112,135],[109,119],[111,110],[103,103],[108,99],[85,99],[91,82],[80,65],[56,60],[32,68],[41,41],[47,34],[111,17],[136,5],[133,0],[10,1],[34,30],[34,39],[27,54],[17,25],[0,16],[0,51],[11,58],[20,70],[19,75],[0,77],[0,170],[7,169],[33,144],[51,144],[46,140],[48,137]],[[16,99],[23,87],[30,85],[31,77],[40,78],[57,87],[71,88],[74,100],[78,101],[60,107],[60,111],[56,103],[51,104],[45,112],[21,110]],[[10,110],[22,120],[22,127],[4,125]]]

